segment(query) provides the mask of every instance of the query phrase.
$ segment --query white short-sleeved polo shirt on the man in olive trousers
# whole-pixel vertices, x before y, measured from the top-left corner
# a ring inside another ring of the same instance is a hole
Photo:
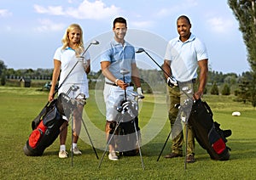
[[[176,37],[168,42],[165,59],[171,61],[172,76],[178,82],[188,82],[197,77],[198,61],[208,59],[207,48],[193,34],[186,42]]]

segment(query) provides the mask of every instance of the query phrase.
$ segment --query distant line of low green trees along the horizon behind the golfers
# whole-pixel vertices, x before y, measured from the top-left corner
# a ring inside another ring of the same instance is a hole
[[[163,92],[166,89],[166,80],[161,70],[143,70],[140,69],[140,77],[144,93]],[[31,80],[44,80],[50,82],[53,69],[20,69],[14,70],[7,68],[3,61],[0,60],[0,76],[1,85],[4,86],[8,79],[19,80],[22,77],[30,78]],[[102,71],[91,71],[88,75],[90,89],[96,87],[96,83],[102,87],[104,76]],[[212,95],[236,95],[236,100],[241,102],[251,102],[253,107],[256,103],[253,101],[255,89],[253,86],[253,72],[246,71],[237,75],[236,73],[223,73],[215,70],[208,71],[207,87],[205,93]]]

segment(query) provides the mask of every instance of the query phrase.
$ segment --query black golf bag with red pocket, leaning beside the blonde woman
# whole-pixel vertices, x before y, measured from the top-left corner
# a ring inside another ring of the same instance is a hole
[[[25,155],[43,155],[44,149],[55,141],[60,133],[61,125],[66,121],[62,119],[62,115],[69,118],[75,107],[76,101],[70,99],[65,93],[61,93],[58,98],[47,104],[32,121],[32,133],[23,148]]]

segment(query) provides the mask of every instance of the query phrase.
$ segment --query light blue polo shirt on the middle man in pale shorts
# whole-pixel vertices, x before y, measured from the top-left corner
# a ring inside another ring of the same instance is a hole
[[[135,49],[129,42],[125,42],[123,46],[113,39],[102,52],[101,62],[102,61],[110,62],[108,70],[113,76],[120,80],[123,80],[123,75],[120,74],[120,70],[129,70],[130,73],[125,75],[125,82],[131,82],[131,64],[136,63],[136,61]],[[105,77],[105,81],[111,82],[107,77]]]

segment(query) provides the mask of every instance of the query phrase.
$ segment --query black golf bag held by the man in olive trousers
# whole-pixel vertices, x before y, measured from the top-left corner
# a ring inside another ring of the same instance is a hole
[[[212,160],[229,160],[230,148],[226,146],[231,130],[222,130],[212,119],[212,110],[207,102],[195,101],[189,116],[189,124],[195,132],[195,139],[207,150]]]

